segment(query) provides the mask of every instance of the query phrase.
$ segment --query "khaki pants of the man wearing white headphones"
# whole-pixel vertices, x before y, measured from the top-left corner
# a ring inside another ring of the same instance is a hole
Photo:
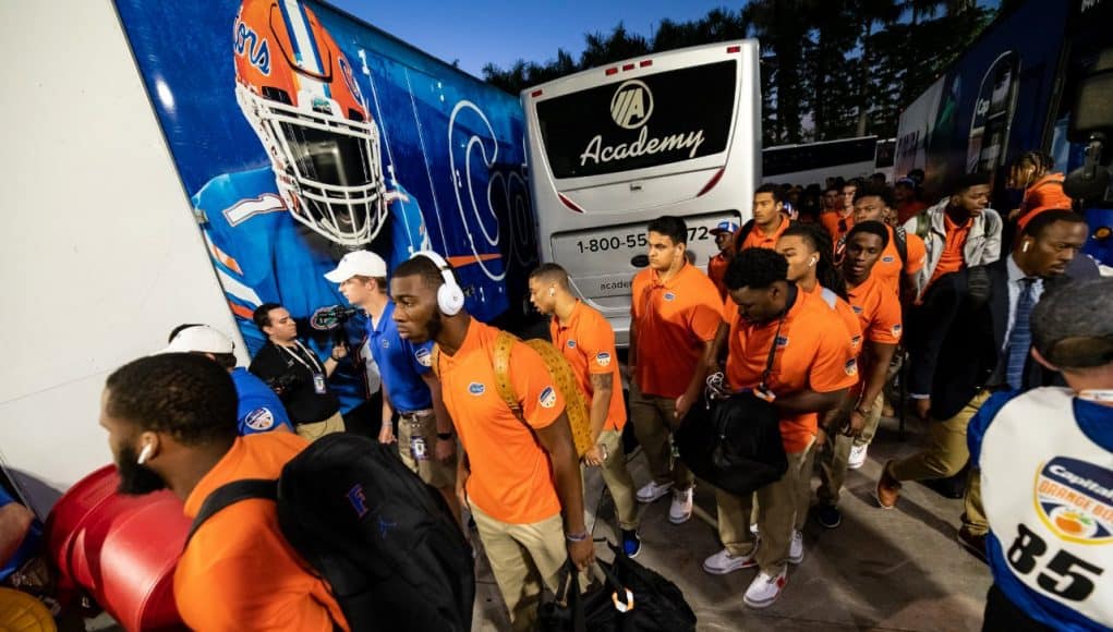
[[[472,517],[491,563],[515,631],[532,630],[536,622],[541,585],[553,593],[568,559],[564,523],[560,514],[532,524],[508,524],[472,505]]]

